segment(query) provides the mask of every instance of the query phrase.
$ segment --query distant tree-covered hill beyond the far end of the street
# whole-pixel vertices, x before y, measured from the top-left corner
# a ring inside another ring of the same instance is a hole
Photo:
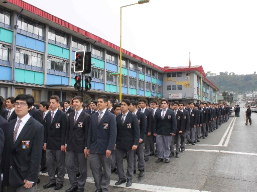
[[[221,91],[245,92],[257,89],[257,74],[220,74],[207,78]]]

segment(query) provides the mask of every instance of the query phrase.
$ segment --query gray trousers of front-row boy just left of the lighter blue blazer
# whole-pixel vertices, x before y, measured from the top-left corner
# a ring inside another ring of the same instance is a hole
[[[78,164],[76,164],[76,160]],[[66,168],[69,176],[69,181],[71,186],[77,186],[78,188],[84,188],[87,178],[87,160],[84,153],[77,153],[72,150],[67,151],[66,153]],[[80,175],[76,177],[75,167],[78,166],[80,169]]]

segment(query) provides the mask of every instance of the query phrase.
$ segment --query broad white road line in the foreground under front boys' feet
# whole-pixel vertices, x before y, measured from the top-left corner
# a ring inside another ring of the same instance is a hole
[[[48,173],[42,173],[40,174],[48,176]],[[65,174],[64,178],[69,179],[68,174]],[[86,182],[91,182],[94,183],[94,178],[93,177],[87,177]],[[117,180],[110,180],[110,185],[115,186],[115,182]],[[187,188],[176,188],[176,187],[169,187],[169,186],[158,186],[158,185],[152,185],[152,184],[141,184],[141,183],[136,183],[133,182],[130,187],[126,187],[126,184],[120,184],[116,187],[124,187],[124,188],[132,188],[132,189],[138,189],[138,190],[144,190],[144,191],[153,191],[153,192],[210,192],[207,190],[195,190],[195,189],[187,189]]]

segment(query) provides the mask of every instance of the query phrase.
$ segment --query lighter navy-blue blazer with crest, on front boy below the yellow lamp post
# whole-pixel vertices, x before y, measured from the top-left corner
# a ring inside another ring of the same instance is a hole
[[[98,116],[98,112],[93,113],[91,116],[87,148],[90,149],[90,154],[94,153],[96,147],[100,154],[105,154],[106,150],[113,152],[117,135],[115,115],[106,109],[99,123]]]

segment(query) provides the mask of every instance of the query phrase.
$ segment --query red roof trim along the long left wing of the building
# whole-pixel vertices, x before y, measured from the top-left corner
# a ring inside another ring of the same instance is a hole
[[[22,0],[6,0],[6,1],[8,1],[8,2],[10,2],[12,4],[15,4],[15,5],[17,5],[17,6],[21,7],[21,8],[24,8],[24,9],[26,9],[26,10],[34,13],[34,14],[37,14],[37,15],[39,15],[41,17],[44,17],[44,18],[46,18],[46,19],[48,19],[50,21],[53,21],[53,22],[61,25],[61,26],[69,28],[69,29],[71,29],[71,30],[73,30],[73,31],[75,31],[77,33],[85,35],[85,36],[87,36],[87,37],[89,37],[89,38],[91,38],[93,40],[96,40],[96,41],[98,41],[98,42],[100,42],[100,43],[102,43],[104,45],[107,45],[107,46],[109,46],[109,47],[119,51],[119,46],[117,46],[117,45],[115,45],[115,44],[113,44],[113,43],[111,43],[111,42],[109,42],[107,40],[104,40],[103,38],[100,38],[99,36],[96,36],[96,35],[88,32],[86,30],[83,30],[83,29],[81,29],[81,28],[79,28],[79,27],[77,27],[77,26],[75,26],[75,25],[73,25],[73,24],[71,24],[69,22],[66,22],[65,20],[62,20],[62,19],[60,19],[60,18],[58,18],[58,17],[56,17],[56,16],[54,16],[54,15],[48,13],[48,12],[45,12],[42,9],[37,8],[36,6],[33,6],[33,5],[31,5],[31,4],[29,4],[29,3],[25,2],[25,1],[22,1]],[[129,55],[129,56],[131,56],[133,58],[136,58],[136,59],[138,59],[138,60],[140,60],[142,62],[145,62],[146,64],[149,64],[150,66],[153,66],[153,67],[155,67],[155,68],[157,68],[159,70],[165,71],[163,67],[160,67],[160,66],[158,66],[158,65],[156,65],[156,64],[154,64],[154,63],[152,63],[152,62],[150,62],[150,61],[148,61],[148,60],[146,60],[146,59],[144,59],[144,58],[142,58],[142,57],[140,57],[140,56],[138,56],[136,54],[133,54],[130,51],[127,51],[127,50],[122,48],[122,52],[124,54],[127,54],[127,55]]]

